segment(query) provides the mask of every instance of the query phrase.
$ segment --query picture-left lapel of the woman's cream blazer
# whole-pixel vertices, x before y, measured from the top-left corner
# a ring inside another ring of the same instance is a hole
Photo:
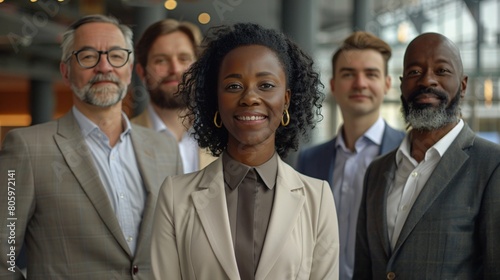
[[[192,198],[208,242],[229,279],[239,279],[227,214],[222,157],[204,169],[200,188],[193,192]]]

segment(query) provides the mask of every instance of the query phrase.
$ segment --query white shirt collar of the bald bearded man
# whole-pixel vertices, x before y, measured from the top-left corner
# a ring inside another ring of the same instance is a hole
[[[427,159],[431,151],[437,152],[439,154],[439,157],[442,157],[444,153],[448,150],[448,148],[451,146],[453,141],[457,138],[458,134],[460,133],[463,127],[464,127],[464,121],[460,119],[458,124],[455,125],[455,127],[452,130],[450,130],[445,136],[443,136],[443,138],[441,138],[438,142],[436,142],[432,147],[429,148],[429,150],[425,153],[425,159]],[[396,152],[396,163],[400,163],[403,156],[409,159],[413,159],[410,154],[410,147],[411,147],[410,137],[411,137],[411,131],[406,134],[405,138],[401,142],[401,145],[399,146]]]

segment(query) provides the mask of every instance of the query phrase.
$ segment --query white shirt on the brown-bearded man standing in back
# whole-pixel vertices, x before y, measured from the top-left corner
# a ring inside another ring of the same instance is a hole
[[[151,118],[151,122],[153,124],[153,129],[157,132],[167,133],[174,138],[175,135],[172,133],[170,129],[165,125],[165,123],[161,120],[160,116],[155,112],[151,103],[148,105],[148,113]],[[179,152],[182,158],[182,167],[184,168],[184,173],[194,172],[200,169],[200,155],[198,143],[192,136],[192,131],[186,131],[181,138],[181,141],[178,142]]]

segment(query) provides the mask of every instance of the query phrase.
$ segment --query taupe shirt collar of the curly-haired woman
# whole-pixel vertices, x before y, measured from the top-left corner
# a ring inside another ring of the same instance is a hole
[[[276,185],[276,178],[278,176],[278,154],[274,155],[265,163],[259,166],[248,166],[235,159],[228,153],[222,154],[222,166],[224,172],[224,181],[232,189],[236,189],[248,171],[254,168],[259,177],[262,179],[267,188],[273,189]]]

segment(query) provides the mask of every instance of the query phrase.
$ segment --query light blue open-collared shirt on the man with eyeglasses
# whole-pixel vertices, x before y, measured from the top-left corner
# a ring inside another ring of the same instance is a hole
[[[130,122],[122,113],[124,131],[114,147],[99,127],[73,106],[73,115],[89,147],[111,207],[128,243],[135,253],[146,191],[135,158]]]

